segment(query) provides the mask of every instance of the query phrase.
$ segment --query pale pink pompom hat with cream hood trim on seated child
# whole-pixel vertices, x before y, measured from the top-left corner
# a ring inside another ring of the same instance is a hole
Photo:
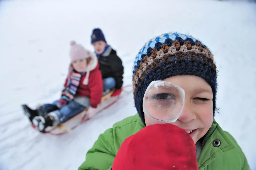
[[[93,62],[92,60],[94,60],[94,57],[92,57],[90,51],[86,50],[82,45],[76,44],[75,41],[71,41],[70,45],[71,45],[71,49],[70,49],[71,62],[75,61],[75,60],[79,60],[79,59],[84,59],[84,58],[91,58],[90,63]],[[87,65],[87,68],[86,68],[86,76],[85,76],[85,79],[83,81],[84,85],[87,85],[88,81],[89,81],[89,75],[90,75],[90,66],[89,66],[89,64]],[[73,70],[73,67],[72,67],[72,64],[70,64],[69,72],[71,72],[72,70]]]

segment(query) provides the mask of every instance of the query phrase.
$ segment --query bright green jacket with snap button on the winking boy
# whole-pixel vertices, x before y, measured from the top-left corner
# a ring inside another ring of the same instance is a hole
[[[87,152],[86,160],[78,170],[108,170],[123,141],[144,126],[138,114],[127,117],[100,134]],[[214,146],[216,139],[220,141]],[[250,170],[246,157],[235,139],[213,122],[205,145],[197,159],[199,170]]]

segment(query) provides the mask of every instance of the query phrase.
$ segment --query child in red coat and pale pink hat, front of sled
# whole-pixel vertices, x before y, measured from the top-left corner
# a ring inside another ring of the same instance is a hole
[[[95,54],[72,41],[70,59],[69,74],[59,100],[36,110],[22,105],[25,114],[40,132],[48,126],[54,127],[67,121],[86,108],[86,114],[91,118],[101,102],[103,82]]]

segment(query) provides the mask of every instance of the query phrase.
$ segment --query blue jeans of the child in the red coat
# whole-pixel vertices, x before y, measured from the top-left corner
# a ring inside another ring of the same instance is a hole
[[[67,121],[68,119],[74,117],[85,109],[84,106],[73,100],[69,102],[66,106],[59,109],[56,106],[57,102],[58,100],[53,102],[52,104],[44,104],[38,108],[41,113],[44,113],[41,116],[46,117],[49,113],[49,115],[55,118],[57,124]]]

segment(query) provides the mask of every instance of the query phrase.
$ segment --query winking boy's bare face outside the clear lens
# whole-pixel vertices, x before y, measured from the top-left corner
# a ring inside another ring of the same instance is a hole
[[[202,78],[190,75],[174,76],[165,79],[185,91],[185,106],[179,119],[172,123],[186,131],[196,143],[210,129],[213,122],[213,93],[211,86]],[[150,119],[146,114],[146,125]]]

